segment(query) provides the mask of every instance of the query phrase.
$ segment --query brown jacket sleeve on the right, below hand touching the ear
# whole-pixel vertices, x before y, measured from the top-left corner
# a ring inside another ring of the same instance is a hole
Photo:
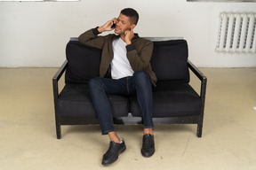
[[[153,42],[147,41],[140,47],[141,50],[137,51],[132,44],[126,46],[127,58],[132,66],[132,70],[146,71],[150,66],[150,59],[153,52]]]

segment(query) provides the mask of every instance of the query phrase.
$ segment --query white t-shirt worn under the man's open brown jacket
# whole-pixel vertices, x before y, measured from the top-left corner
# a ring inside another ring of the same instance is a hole
[[[111,76],[112,79],[121,79],[132,76],[134,73],[128,58],[126,57],[126,43],[118,38],[112,42],[114,58],[111,61]]]

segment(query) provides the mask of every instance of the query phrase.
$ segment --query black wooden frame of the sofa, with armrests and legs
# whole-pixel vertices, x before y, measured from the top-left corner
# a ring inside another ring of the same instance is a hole
[[[149,37],[150,40],[165,40],[166,38]],[[72,40],[72,38],[71,38]],[[74,39],[73,39],[74,40]],[[56,134],[57,138],[61,138],[61,126],[62,125],[98,125],[98,119],[92,118],[81,118],[72,116],[63,116],[56,114],[56,104],[59,97],[59,81],[63,73],[66,71],[68,66],[68,60],[64,61],[60,69],[55,73],[52,78],[53,86],[53,97],[54,97],[54,109],[55,109],[55,123],[56,123]],[[207,78],[195,65],[188,60],[188,68],[195,73],[196,77],[201,81],[200,98],[202,99],[202,108],[199,115],[194,116],[183,116],[183,117],[169,117],[169,118],[153,118],[154,124],[197,124],[196,136],[202,137],[203,132],[203,120],[204,120],[204,104],[205,104],[205,93]],[[128,117],[115,118],[114,123],[116,125],[136,125],[142,124],[141,118],[132,117],[128,114]]]

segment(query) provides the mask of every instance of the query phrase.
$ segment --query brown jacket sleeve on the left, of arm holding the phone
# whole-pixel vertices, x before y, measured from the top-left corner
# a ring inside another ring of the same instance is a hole
[[[78,37],[79,42],[83,43],[84,45],[102,49],[105,42],[105,38],[104,36],[98,36],[100,35],[100,32],[97,28],[98,27],[90,29],[84,32],[82,35],[80,35]]]

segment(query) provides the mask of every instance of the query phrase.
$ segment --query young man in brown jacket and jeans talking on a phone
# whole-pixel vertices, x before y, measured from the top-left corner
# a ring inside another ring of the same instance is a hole
[[[102,135],[108,135],[110,139],[108,151],[102,159],[104,166],[115,162],[119,154],[126,149],[124,139],[116,134],[107,94],[137,95],[144,122],[141,154],[150,157],[155,152],[152,131],[152,84],[156,86],[156,74],[149,63],[153,42],[133,33],[138,19],[139,14],[135,10],[126,8],[117,19],[108,20],[103,26],[90,29],[78,38],[85,45],[102,49],[100,77],[90,80],[89,87]],[[100,36],[100,33],[112,30],[116,34]]]

